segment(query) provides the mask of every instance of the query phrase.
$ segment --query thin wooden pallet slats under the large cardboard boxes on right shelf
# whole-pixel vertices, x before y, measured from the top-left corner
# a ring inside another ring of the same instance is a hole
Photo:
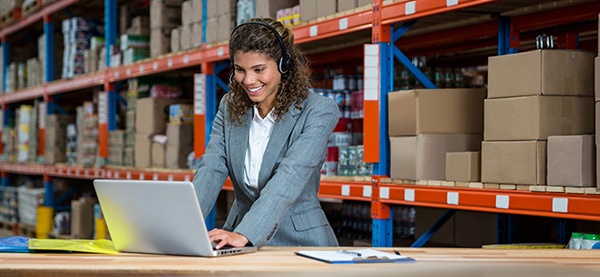
[[[535,186],[535,185],[482,183],[482,182],[455,182],[455,181],[440,181],[440,180],[414,181],[414,180],[402,180],[402,179],[392,179],[392,178],[383,178],[383,179],[381,179],[381,182],[385,183],[385,184],[397,184],[397,185],[457,187],[457,188],[495,189],[495,190],[517,190],[517,191],[532,191],[532,192],[589,194],[589,195],[599,195],[600,194],[600,188],[598,188],[598,187]]]

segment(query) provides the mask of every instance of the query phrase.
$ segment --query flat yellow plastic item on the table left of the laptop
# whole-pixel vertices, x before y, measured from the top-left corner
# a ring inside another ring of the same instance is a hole
[[[119,254],[110,240],[30,239],[30,250],[62,250],[99,254]]]

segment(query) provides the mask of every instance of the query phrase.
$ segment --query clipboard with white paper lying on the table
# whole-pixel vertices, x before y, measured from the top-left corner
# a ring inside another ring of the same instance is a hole
[[[339,251],[298,251],[296,254],[328,263],[415,262],[414,259],[370,248]]]

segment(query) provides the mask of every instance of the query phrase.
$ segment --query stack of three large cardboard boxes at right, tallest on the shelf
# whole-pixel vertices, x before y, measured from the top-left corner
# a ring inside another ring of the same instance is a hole
[[[575,50],[489,58],[482,182],[547,184],[546,165],[554,164],[547,161],[548,137],[594,132],[593,60],[593,53]],[[568,148],[570,142],[555,143]],[[560,166],[578,170],[573,163]]]

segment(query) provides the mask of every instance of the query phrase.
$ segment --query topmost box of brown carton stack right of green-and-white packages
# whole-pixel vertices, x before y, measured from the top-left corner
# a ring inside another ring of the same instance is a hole
[[[169,31],[181,23],[182,0],[150,1],[150,27],[171,27]]]

